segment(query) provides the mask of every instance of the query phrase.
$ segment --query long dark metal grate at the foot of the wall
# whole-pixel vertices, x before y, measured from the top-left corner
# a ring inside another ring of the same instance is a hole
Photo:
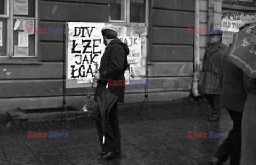
[[[21,110],[24,113],[51,113],[51,112],[62,112],[65,111],[64,107],[57,108],[41,108],[41,109],[30,109],[30,110]],[[67,111],[77,111],[71,106],[67,106]]]

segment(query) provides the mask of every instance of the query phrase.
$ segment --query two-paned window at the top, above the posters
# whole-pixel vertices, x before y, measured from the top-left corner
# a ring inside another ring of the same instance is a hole
[[[145,23],[146,0],[110,0],[109,21]]]

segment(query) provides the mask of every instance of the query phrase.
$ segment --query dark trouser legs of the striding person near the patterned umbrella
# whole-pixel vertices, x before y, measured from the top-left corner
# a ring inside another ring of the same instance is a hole
[[[234,122],[233,128],[230,130],[228,138],[220,145],[215,157],[222,162],[226,162],[230,155],[230,165],[236,165],[239,164],[241,154],[241,120],[243,113],[232,110],[228,110],[228,112]]]

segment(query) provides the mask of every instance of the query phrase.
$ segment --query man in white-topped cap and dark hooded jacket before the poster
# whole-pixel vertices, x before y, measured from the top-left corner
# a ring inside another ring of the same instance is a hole
[[[129,48],[127,44],[124,44],[117,38],[118,29],[115,26],[107,25],[102,28],[101,32],[106,48],[101,58],[99,73],[95,74],[98,85],[94,100],[106,89],[108,80],[111,80],[118,82],[118,85],[108,85],[108,90],[118,97],[117,102],[123,103],[125,90],[124,72],[128,67],[127,55],[129,54]],[[121,84],[119,82],[121,82]],[[113,108],[111,108],[108,115],[104,144],[102,144],[102,124],[99,106],[97,106],[95,110],[95,124],[102,148],[100,154],[103,159],[113,158],[114,155],[121,153],[117,102],[114,104]]]

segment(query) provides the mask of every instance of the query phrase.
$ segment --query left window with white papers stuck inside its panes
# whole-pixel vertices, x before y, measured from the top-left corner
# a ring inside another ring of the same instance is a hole
[[[1,0],[0,2],[0,57],[37,57],[38,0]],[[1,59],[0,59],[1,60]]]

